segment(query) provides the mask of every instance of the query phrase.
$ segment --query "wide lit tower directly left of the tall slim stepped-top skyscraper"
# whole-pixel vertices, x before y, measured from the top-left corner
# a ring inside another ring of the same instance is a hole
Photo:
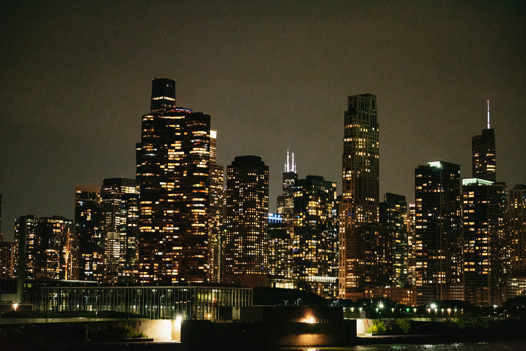
[[[294,278],[297,289],[338,296],[336,183],[308,175],[294,186]]]

